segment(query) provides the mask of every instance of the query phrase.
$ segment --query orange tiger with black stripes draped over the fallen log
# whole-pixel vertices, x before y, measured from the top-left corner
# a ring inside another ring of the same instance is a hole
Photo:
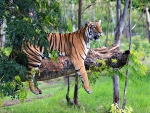
[[[99,41],[102,35],[101,20],[98,22],[86,21],[85,26],[72,33],[49,33],[47,41],[50,51],[56,50],[60,56],[68,56],[71,63],[74,65],[76,74],[81,77],[83,87],[87,93],[92,93],[89,85],[87,72],[84,65],[84,60],[90,49],[90,42],[93,40]],[[28,59],[28,69],[39,70],[43,58],[44,47],[33,46],[29,42],[26,43],[27,48],[23,48]],[[42,91],[34,86],[35,75],[29,80],[29,88],[34,94],[41,94]]]

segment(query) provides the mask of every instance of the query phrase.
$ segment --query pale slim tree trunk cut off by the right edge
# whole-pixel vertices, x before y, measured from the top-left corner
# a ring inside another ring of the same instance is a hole
[[[146,7],[145,10],[146,10],[146,22],[147,22],[147,38],[150,43],[150,16],[148,12],[148,7]]]

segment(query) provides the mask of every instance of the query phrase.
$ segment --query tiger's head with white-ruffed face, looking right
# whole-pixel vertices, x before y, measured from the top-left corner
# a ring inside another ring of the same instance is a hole
[[[101,20],[98,22],[85,22],[86,31],[85,35],[88,37],[89,41],[100,40],[100,36],[102,35],[102,28],[101,28]]]

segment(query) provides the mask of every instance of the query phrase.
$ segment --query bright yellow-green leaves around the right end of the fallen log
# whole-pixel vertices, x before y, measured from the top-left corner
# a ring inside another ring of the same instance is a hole
[[[141,78],[146,75],[148,67],[145,66],[141,61],[141,56],[143,55],[143,52],[137,52],[137,51],[131,51],[129,56],[129,65],[125,65],[120,69],[113,69],[112,67],[109,67],[106,65],[106,61],[104,60],[98,60],[97,63],[100,63],[100,67],[94,67],[94,72],[91,72],[91,75],[89,76],[89,80],[92,83],[95,83],[97,78],[99,77],[99,73],[101,75],[107,75],[107,76],[113,76],[118,75],[120,78],[124,79],[126,70],[130,70],[130,77],[131,80],[134,81],[134,78]],[[117,59],[111,59],[112,63],[117,63]],[[93,68],[92,66],[90,68]]]

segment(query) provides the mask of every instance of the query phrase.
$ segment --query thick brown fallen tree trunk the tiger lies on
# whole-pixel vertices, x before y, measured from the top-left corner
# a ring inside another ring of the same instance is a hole
[[[118,46],[90,49],[87,58],[85,59],[85,68],[88,70],[89,67],[92,67],[90,70],[92,69],[94,71],[96,70],[96,67],[102,66],[102,63],[98,63],[97,60],[104,60],[109,67],[121,68],[127,63],[129,54],[130,51],[128,50],[120,52]],[[117,62],[112,62],[112,59],[116,59]],[[57,63],[49,59],[44,59],[40,66],[40,73],[40,76],[36,75],[37,81],[74,74],[75,69],[69,57],[65,56],[58,57]]]

